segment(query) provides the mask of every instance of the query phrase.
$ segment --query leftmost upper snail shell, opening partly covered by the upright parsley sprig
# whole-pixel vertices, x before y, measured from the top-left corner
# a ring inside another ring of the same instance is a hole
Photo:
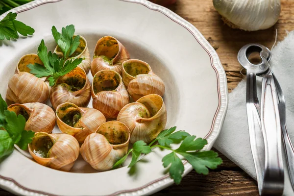
[[[29,73],[28,64],[38,63],[43,65],[37,54],[26,54],[21,57],[15,70],[15,74],[8,82],[6,98],[14,103],[45,103],[49,98],[51,87],[46,77],[38,78]],[[32,93],[32,90],[34,93]]]

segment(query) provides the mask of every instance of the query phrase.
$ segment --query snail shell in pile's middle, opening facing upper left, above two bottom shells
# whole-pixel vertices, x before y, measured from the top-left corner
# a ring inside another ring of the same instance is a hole
[[[56,109],[57,125],[61,132],[83,143],[88,135],[106,123],[104,115],[94,108],[79,108],[73,103],[62,103]]]

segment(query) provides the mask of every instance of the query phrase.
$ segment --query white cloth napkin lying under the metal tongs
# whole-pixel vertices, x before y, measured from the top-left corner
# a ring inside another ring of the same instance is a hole
[[[294,143],[294,31],[290,32],[282,42],[278,43],[271,50],[271,52],[272,57],[270,65],[281,85],[286,99],[286,124],[291,141]],[[257,83],[260,91],[260,77],[258,77]],[[261,100],[260,96],[259,100]],[[220,136],[214,147],[256,179],[255,167],[250,149],[245,102],[246,81],[243,80],[236,89],[229,94],[228,111]],[[285,168],[284,195],[293,196],[294,191],[288,174],[284,150],[283,160]]]

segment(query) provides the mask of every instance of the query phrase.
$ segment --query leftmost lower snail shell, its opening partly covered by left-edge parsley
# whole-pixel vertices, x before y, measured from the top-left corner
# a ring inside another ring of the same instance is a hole
[[[46,104],[16,103],[9,105],[7,109],[25,117],[25,130],[27,131],[51,133],[55,126],[55,113]]]

